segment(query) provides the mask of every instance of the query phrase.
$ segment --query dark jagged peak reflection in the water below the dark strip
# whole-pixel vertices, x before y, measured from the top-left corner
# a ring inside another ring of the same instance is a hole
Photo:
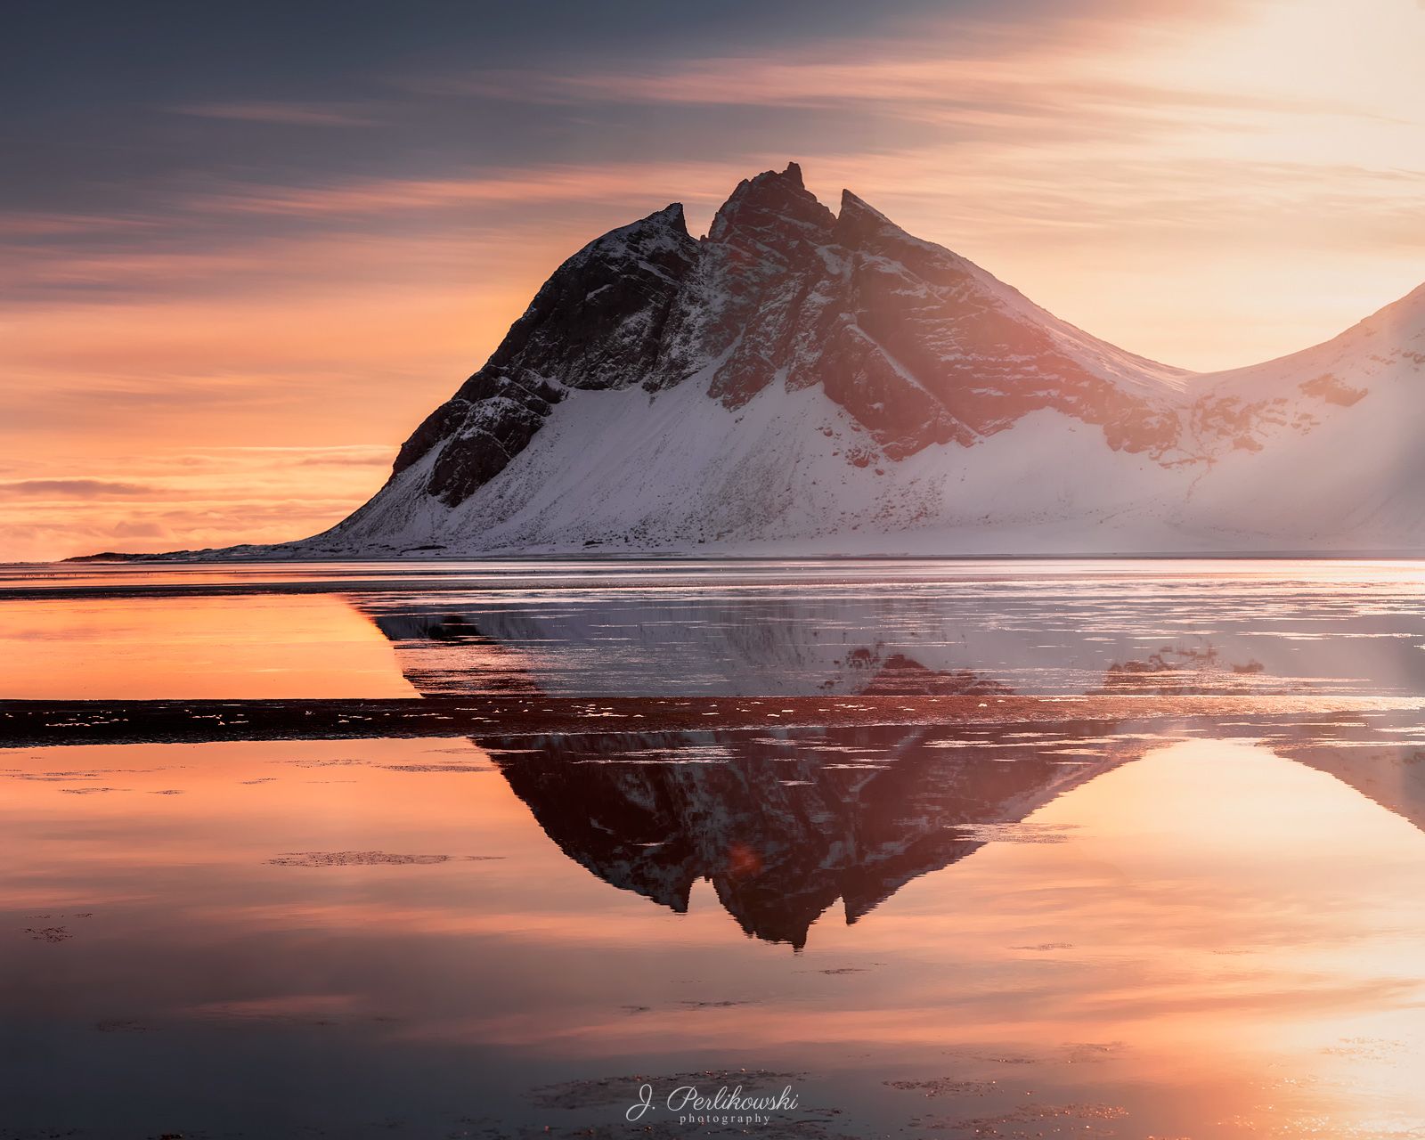
[[[1013,824],[1140,755],[1147,740],[1049,731],[856,728],[781,735],[577,735],[497,758],[574,862],[688,909],[698,879],[748,935],[801,948],[838,899],[846,922],[980,846],[965,828]]]

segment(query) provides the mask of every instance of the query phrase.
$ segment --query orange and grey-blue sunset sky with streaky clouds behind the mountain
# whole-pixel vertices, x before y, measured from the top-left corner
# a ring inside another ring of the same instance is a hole
[[[296,539],[539,285],[801,162],[1200,370],[1425,281],[1425,0],[20,0],[0,560]]]

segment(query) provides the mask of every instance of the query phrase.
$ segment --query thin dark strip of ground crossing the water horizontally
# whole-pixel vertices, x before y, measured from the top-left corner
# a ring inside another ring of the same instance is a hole
[[[1425,710],[1361,697],[465,697],[0,701],[0,745],[685,732],[767,727],[1300,717]]]

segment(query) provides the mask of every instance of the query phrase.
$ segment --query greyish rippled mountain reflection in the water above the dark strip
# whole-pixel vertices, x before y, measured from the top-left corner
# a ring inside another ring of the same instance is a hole
[[[352,596],[425,695],[1425,694],[1419,574],[741,580]]]

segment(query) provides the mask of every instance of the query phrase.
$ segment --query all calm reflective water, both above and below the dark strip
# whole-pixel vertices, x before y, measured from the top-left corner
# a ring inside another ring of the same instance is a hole
[[[11,698],[718,714],[0,750],[0,1137],[1425,1136],[1422,583],[16,571]],[[728,694],[886,722],[745,727]],[[893,722],[901,694],[986,714]],[[995,718],[999,694],[1104,711]],[[1234,711],[1173,714],[1191,694]],[[797,1107],[670,1110],[690,1086]]]

